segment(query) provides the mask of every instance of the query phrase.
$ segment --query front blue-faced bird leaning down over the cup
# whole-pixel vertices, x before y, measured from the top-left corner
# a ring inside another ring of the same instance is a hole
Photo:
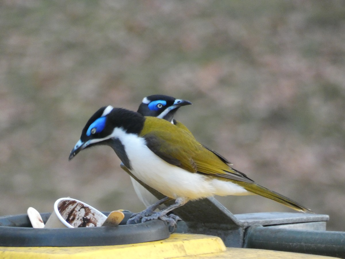
[[[142,220],[162,218],[167,212],[213,195],[258,194],[301,212],[311,212],[297,202],[256,184],[231,168],[185,130],[156,117],[144,117],[122,108],[106,106],[91,116],[69,160],[81,150],[108,145],[142,182],[175,199],[175,204]],[[143,217],[143,215],[145,215]]]

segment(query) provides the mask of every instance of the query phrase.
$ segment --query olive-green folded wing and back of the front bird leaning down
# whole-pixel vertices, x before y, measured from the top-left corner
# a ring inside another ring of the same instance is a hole
[[[189,133],[175,125],[146,117],[140,134],[145,138],[148,148],[164,161],[193,173],[250,182],[245,174],[232,169],[217,154],[197,142]]]

